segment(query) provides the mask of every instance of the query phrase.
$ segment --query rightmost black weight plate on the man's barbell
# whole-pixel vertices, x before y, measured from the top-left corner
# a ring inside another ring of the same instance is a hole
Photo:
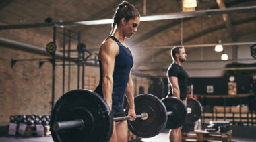
[[[200,119],[203,113],[203,107],[195,98],[187,98],[187,119],[186,123],[195,123]]]

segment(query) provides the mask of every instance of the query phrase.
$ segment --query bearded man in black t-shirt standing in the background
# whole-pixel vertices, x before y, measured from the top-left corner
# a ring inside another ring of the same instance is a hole
[[[176,46],[171,50],[173,63],[170,64],[167,71],[170,91],[168,96],[174,96],[181,99],[186,104],[187,97],[187,78],[188,75],[182,68],[182,63],[187,60],[187,54],[183,46]],[[181,128],[170,130],[170,141],[181,141]]]

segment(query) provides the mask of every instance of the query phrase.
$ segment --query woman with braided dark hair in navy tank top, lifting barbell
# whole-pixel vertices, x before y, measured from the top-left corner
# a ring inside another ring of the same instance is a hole
[[[130,38],[137,31],[140,15],[133,5],[123,1],[117,7],[113,19],[110,36],[104,40],[98,54],[100,83],[95,92],[103,96],[113,117],[125,117],[122,104],[126,94],[130,106],[128,115],[134,121],[136,113],[131,79],[133,57],[125,44],[125,38]],[[110,141],[127,141],[127,130],[127,121],[114,122]]]

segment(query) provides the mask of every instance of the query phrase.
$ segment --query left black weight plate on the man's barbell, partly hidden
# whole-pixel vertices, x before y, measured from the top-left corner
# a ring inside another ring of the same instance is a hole
[[[187,108],[179,98],[168,97],[163,98],[162,102],[166,106],[166,110],[172,111],[172,115],[168,115],[166,129],[177,129],[181,127],[187,118]]]

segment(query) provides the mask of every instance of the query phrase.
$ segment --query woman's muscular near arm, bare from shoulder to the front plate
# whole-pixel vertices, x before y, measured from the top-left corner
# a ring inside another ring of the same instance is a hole
[[[119,48],[115,42],[108,39],[100,49],[100,60],[102,66],[102,93],[104,100],[112,109],[112,91],[113,91],[113,72],[115,66],[115,56],[117,56]]]

